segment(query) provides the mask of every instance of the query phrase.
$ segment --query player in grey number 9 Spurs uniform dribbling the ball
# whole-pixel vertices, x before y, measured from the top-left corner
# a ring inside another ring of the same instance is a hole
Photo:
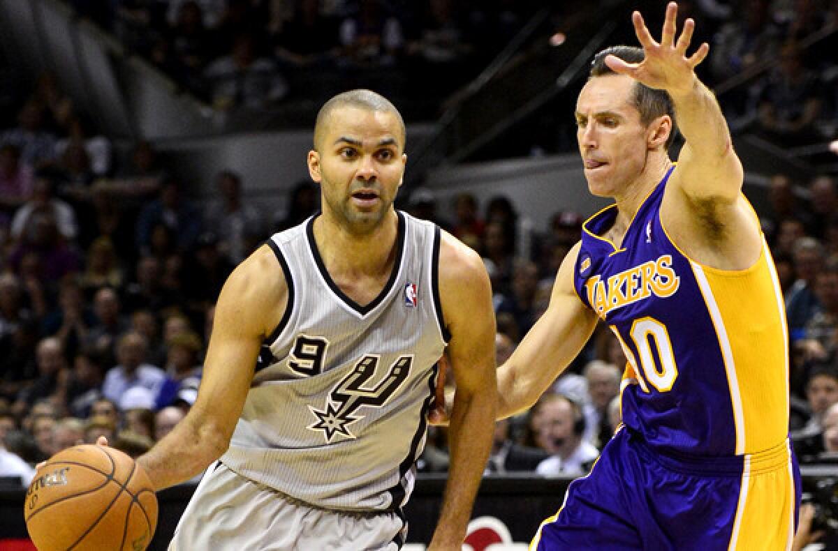
[[[404,150],[374,92],[320,110],[308,170],[323,212],[230,275],[198,397],[138,461],[157,489],[212,463],[170,549],[400,548],[443,349],[458,390],[430,548],[461,547],[495,417],[489,276],[393,208]]]

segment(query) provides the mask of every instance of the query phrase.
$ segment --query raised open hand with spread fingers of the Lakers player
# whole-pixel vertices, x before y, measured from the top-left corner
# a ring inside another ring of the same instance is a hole
[[[694,54],[687,57],[686,49],[690,46],[696,22],[687,19],[680,36],[675,40],[677,14],[678,4],[667,4],[664,28],[658,43],[649,33],[643,16],[639,12],[632,13],[634,33],[643,46],[645,59],[640,63],[627,63],[615,55],[608,55],[605,64],[615,73],[628,75],[649,88],[666,90],[673,96],[692,90],[696,78],[694,69],[706,58],[710,46],[706,42],[702,43]]]

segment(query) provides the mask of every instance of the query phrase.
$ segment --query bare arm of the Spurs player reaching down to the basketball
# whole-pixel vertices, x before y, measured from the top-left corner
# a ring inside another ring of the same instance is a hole
[[[189,414],[137,463],[155,489],[188,480],[223,454],[250,389],[262,339],[284,312],[287,285],[272,250],[263,246],[239,265],[215,306],[198,398]]]

